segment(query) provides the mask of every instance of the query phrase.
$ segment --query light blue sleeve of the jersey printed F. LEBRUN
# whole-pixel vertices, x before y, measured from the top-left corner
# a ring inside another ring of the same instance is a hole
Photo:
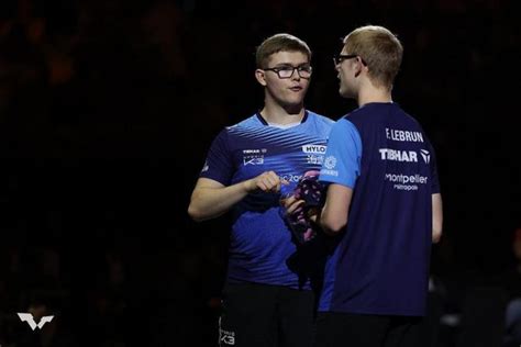
[[[362,139],[355,125],[346,119],[337,121],[328,139],[320,180],[355,188],[361,172]]]

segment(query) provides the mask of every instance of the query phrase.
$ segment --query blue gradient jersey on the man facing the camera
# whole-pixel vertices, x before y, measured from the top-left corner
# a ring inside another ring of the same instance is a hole
[[[300,124],[279,128],[254,114],[215,137],[200,177],[231,186],[273,170],[290,183],[282,192],[291,192],[306,171],[320,169],[333,123],[307,111]],[[280,193],[259,191],[233,208],[230,282],[300,287],[297,273],[287,264],[296,245],[279,201]]]

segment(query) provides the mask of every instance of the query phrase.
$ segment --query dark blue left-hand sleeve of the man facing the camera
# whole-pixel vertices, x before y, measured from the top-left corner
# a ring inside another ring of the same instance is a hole
[[[223,130],[213,139],[199,177],[209,178],[224,186],[230,186],[234,169],[228,137],[228,131]]]

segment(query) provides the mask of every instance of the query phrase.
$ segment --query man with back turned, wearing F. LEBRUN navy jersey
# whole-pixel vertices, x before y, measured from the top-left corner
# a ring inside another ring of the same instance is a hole
[[[421,346],[432,242],[442,231],[434,150],[421,125],[392,101],[402,46],[381,26],[343,41],[340,94],[358,109],[339,120],[311,216],[336,238],[317,320],[317,347]],[[289,199],[288,213],[302,204]]]

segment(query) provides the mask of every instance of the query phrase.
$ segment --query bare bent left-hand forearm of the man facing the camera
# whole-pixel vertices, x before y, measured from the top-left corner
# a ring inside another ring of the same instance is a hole
[[[199,187],[193,190],[188,214],[197,222],[211,220],[228,212],[248,194],[245,182],[230,187]]]

